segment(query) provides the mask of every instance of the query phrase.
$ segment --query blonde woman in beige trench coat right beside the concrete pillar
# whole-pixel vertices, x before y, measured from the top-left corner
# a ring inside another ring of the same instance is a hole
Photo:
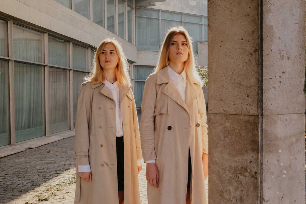
[[[177,85],[174,76],[181,77],[181,83]],[[206,106],[184,27],[168,31],[155,71],[146,80],[141,108],[148,203],[206,204]]]

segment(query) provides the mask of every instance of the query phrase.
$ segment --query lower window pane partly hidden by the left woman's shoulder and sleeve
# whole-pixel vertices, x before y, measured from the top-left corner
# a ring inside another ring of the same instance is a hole
[[[84,77],[87,76],[84,72],[73,72],[73,126],[75,127],[76,123],[76,105],[77,98],[79,96],[79,91],[81,84],[85,81]]]

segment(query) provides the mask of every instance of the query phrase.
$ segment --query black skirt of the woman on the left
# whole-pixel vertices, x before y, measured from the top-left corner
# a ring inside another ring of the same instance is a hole
[[[118,178],[118,191],[124,191],[124,148],[123,136],[116,137],[117,141],[117,178]]]

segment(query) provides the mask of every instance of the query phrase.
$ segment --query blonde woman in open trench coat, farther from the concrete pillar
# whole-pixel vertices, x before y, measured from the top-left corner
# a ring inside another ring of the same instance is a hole
[[[121,45],[115,39],[104,40],[95,54],[93,74],[82,84],[77,103],[75,204],[140,204],[138,173],[142,169],[142,153],[127,71]],[[118,94],[113,92],[116,88]],[[119,104],[120,108],[116,107]],[[123,148],[116,149],[118,141]],[[118,150],[124,157],[119,158]],[[118,179],[117,173],[117,161],[121,160],[123,180]]]

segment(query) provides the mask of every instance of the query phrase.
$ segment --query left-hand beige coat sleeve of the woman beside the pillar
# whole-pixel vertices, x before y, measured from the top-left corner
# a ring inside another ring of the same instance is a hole
[[[144,161],[156,159],[154,112],[156,105],[156,75],[150,75],[145,84],[141,103],[140,137]]]

